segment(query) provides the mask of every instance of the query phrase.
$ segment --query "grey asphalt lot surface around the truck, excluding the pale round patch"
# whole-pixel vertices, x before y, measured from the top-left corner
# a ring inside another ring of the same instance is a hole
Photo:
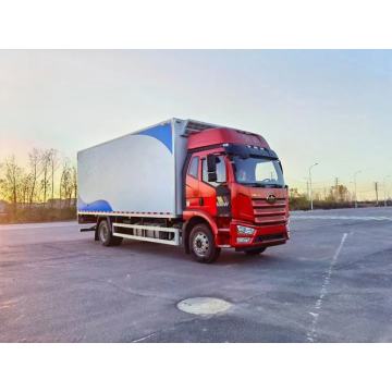
[[[1,342],[392,342],[392,208],[297,212],[291,241],[200,265],[74,222],[0,226]],[[183,313],[188,297],[232,304]]]

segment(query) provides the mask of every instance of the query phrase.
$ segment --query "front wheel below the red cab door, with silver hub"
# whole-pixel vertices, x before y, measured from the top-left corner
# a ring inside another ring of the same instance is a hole
[[[207,224],[197,224],[192,229],[189,248],[198,262],[211,264],[220,255],[220,248],[216,245],[211,229]]]

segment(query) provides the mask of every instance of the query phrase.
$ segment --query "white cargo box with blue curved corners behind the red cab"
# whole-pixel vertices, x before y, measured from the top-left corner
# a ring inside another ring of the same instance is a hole
[[[78,213],[181,216],[186,124],[169,120],[79,151]]]

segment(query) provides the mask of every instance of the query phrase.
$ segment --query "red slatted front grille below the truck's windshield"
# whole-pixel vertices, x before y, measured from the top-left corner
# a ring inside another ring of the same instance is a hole
[[[269,204],[266,198],[253,198],[255,222],[260,225],[285,224],[285,198],[277,198],[274,204]]]

